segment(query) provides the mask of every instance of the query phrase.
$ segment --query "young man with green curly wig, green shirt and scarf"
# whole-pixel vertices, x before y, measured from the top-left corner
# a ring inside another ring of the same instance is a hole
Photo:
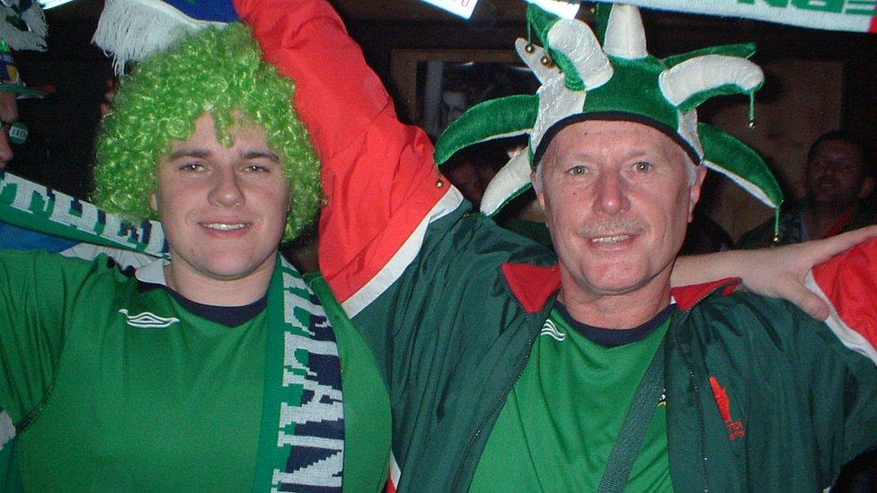
[[[105,257],[0,255],[0,452],[21,473],[7,489],[383,487],[371,353],[278,254],[321,195],[293,92],[244,26],[208,29],[121,84],[94,171],[109,213],[4,175],[80,240],[170,258],[127,275]]]

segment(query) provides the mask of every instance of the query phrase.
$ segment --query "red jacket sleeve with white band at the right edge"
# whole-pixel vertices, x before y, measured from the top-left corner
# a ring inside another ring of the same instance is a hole
[[[828,302],[828,327],[847,348],[877,363],[877,239],[811,270],[806,283]]]

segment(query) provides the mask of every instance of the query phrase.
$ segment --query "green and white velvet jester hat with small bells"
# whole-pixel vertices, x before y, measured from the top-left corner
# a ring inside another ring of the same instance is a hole
[[[598,17],[600,15],[598,14]],[[659,59],[646,51],[639,10],[614,4],[602,48],[587,24],[561,19],[534,4],[527,22],[545,48],[518,39],[518,55],[542,84],[535,95],[475,105],[438,139],[436,161],[460,149],[506,136],[529,135],[528,152],[513,157],[484,192],[481,210],[492,216],[530,187],[530,172],[564,127],[583,120],[626,120],[672,138],[692,160],[731,178],[775,209],[783,193],[764,160],[718,128],[697,122],[696,107],[713,96],[749,94],[764,82],[750,62],[754,45],[700,49]],[[751,115],[750,115],[751,116]]]

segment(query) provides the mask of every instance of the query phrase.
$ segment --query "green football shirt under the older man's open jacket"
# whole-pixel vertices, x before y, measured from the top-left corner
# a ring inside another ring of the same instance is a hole
[[[582,326],[555,308],[501,409],[470,490],[596,491],[672,310],[619,331]],[[666,402],[655,405],[629,491],[672,490]]]

